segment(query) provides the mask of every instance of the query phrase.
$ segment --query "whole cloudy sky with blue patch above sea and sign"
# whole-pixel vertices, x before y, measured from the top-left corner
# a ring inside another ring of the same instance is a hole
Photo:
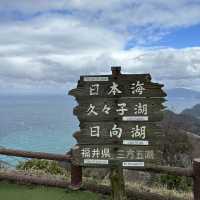
[[[200,91],[200,0],[0,0],[1,92],[64,93],[115,65]]]

